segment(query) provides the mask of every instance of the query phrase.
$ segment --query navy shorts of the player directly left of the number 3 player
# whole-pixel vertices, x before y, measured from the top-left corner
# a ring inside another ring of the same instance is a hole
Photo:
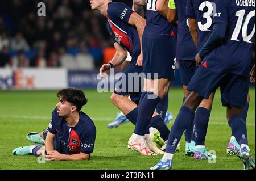
[[[180,82],[182,85],[188,86],[197,68],[195,60],[179,60]]]

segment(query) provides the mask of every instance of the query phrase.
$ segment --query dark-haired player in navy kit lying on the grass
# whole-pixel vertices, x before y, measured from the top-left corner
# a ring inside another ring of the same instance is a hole
[[[46,157],[46,161],[88,160],[94,149],[96,127],[84,112],[87,103],[84,92],[75,88],[57,92],[59,102],[52,112],[48,129],[42,133],[45,146],[30,145],[15,148],[14,155]],[[28,134],[28,140],[43,144],[39,134]]]

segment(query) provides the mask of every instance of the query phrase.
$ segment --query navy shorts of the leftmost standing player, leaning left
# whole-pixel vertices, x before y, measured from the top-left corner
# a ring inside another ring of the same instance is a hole
[[[141,97],[141,91],[143,89],[144,77],[142,74],[142,66],[137,66],[134,62],[127,66],[125,71],[123,71],[123,74],[125,77],[121,77],[118,81],[119,83],[117,82],[115,84],[114,93],[123,96],[130,94],[131,100],[136,103]],[[139,74],[141,77],[139,77]],[[125,85],[121,84],[121,80]]]

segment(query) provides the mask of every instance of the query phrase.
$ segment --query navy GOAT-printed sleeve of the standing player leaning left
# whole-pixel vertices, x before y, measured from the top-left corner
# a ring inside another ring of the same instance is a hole
[[[133,10],[125,3],[110,2],[108,6],[108,16],[122,20],[123,22],[128,23]]]

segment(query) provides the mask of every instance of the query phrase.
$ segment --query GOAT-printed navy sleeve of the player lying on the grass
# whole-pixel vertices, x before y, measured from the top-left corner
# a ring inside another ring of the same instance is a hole
[[[96,128],[93,125],[93,127],[81,133],[81,153],[93,153],[95,139]]]

